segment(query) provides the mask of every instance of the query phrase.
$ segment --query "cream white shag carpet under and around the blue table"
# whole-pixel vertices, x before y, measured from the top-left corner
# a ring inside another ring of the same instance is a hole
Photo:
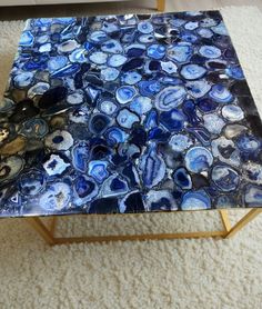
[[[222,13],[262,111],[262,13],[253,7]],[[0,94],[22,27],[22,21],[0,22]],[[213,211],[75,217],[60,228],[97,235],[201,230],[219,228],[216,217]],[[1,309],[261,309],[261,282],[262,216],[230,240],[57,247],[48,247],[23,219],[0,220]]]

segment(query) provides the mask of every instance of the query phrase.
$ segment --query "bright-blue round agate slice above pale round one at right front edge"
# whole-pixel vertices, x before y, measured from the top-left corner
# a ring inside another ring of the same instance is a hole
[[[201,172],[209,170],[213,163],[211,152],[204,147],[193,147],[185,153],[185,167],[192,172]]]

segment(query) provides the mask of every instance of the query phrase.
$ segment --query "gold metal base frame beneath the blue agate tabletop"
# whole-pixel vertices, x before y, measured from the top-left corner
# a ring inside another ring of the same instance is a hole
[[[143,233],[143,235],[119,235],[119,236],[84,236],[84,237],[56,237],[56,226],[58,216],[52,218],[50,228],[48,228],[40,219],[40,217],[29,217],[28,222],[38,231],[38,233],[46,240],[47,243],[62,245],[73,242],[108,242],[108,241],[124,241],[124,240],[161,240],[161,239],[182,239],[182,238],[208,238],[208,237],[233,237],[240,229],[253,220],[262,209],[251,209],[241,220],[234,226],[231,226],[228,210],[221,209],[220,212],[223,230],[214,231],[195,231],[195,232],[175,232],[175,233]]]

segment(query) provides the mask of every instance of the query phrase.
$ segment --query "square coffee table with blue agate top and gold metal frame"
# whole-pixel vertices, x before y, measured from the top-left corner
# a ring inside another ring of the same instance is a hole
[[[50,245],[229,238],[261,212],[261,119],[219,11],[30,19],[0,113],[0,217]],[[229,208],[250,211],[231,227]],[[54,235],[59,216],[179,210],[224,229]]]

